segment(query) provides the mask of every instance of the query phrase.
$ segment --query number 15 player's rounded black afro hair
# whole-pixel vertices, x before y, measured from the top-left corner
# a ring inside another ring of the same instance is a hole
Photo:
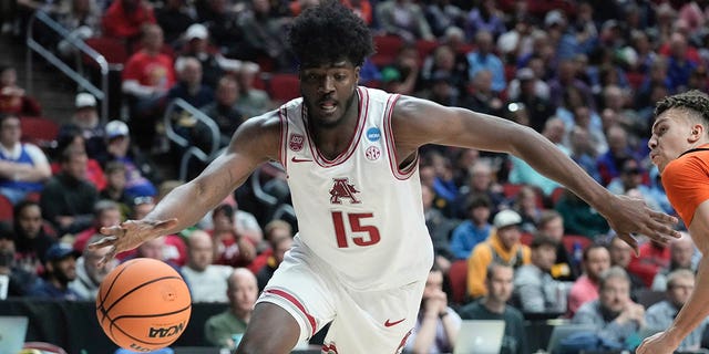
[[[301,66],[349,60],[354,66],[374,52],[367,24],[339,1],[325,0],[292,22],[290,49]]]

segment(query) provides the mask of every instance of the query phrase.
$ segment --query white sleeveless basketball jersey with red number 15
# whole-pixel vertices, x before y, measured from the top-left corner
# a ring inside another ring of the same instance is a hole
[[[401,287],[428,277],[419,165],[397,166],[391,115],[399,95],[358,87],[359,118],[335,159],[318,152],[302,98],[280,107],[280,163],[298,216],[298,237],[356,290]]]

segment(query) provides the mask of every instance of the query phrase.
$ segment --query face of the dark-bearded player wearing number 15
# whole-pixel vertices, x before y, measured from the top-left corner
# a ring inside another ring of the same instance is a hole
[[[357,97],[359,70],[347,60],[300,69],[300,94],[308,108],[309,122],[320,127],[335,127],[343,121]]]

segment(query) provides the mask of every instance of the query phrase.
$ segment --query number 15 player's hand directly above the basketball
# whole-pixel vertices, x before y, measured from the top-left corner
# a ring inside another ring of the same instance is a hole
[[[100,249],[111,247],[109,252],[101,258],[99,267],[103,267],[115,254],[130,251],[141,243],[165,235],[166,230],[175,227],[177,219],[168,220],[126,220],[116,226],[101,228],[101,233],[105,237],[89,244],[89,249]]]

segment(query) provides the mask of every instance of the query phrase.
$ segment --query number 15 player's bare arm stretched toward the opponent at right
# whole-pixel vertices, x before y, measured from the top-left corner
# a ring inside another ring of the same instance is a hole
[[[636,249],[631,233],[666,243],[679,237],[677,218],[651,210],[640,199],[617,196],[597,184],[574,160],[534,129],[496,116],[402,96],[392,117],[397,156],[410,156],[424,144],[508,153],[571,189],[607,220],[619,238]]]

